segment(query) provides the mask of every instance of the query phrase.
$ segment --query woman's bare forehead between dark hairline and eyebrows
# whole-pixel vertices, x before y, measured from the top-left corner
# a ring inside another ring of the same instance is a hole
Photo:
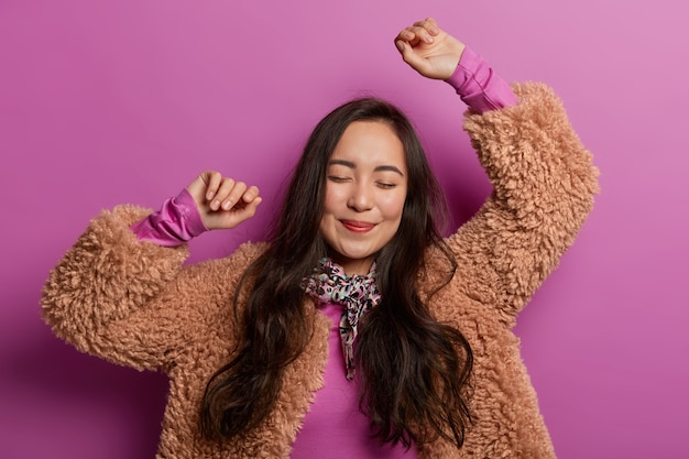
[[[390,124],[381,121],[354,121],[332,152],[331,160],[358,165],[394,165],[406,170],[404,145]]]

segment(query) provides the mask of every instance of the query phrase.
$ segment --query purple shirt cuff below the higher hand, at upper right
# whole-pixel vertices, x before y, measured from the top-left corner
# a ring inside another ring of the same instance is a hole
[[[457,90],[464,103],[479,113],[518,103],[510,85],[469,47],[464,48],[457,69],[446,81]]]

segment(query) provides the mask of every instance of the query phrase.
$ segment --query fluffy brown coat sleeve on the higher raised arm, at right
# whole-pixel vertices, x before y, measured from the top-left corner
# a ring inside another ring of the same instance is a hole
[[[543,84],[513,85],[520,103],[468,112],[464,129],[493,185],[477,215],[448,239],[466,294],[516,315],[572,244],[593,206],[598,170],[559,98]]]

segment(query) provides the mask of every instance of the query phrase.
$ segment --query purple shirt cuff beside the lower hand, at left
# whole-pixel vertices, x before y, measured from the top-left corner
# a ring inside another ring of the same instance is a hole
[[[140,241],[162,247],[175,247],[208,231],[196,203],[184,188],[176,197],[163,203],[161,210],[151,214],[131,227]]]

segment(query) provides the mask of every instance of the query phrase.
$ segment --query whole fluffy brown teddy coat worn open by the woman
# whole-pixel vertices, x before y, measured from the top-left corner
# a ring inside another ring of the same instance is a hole
[[[598,170],[548,87],[513,89],[518,106],[466,114],[494,189],[447,239],[459,266],[428,304],[473,349],[473,424],[461,449],[439,439],[419,447],[423,459],[555,457],[513,327],[590,212]],[[280,400],[259,428],[222,447],[204,440],[198,419],[206,383],[238,340],[231,298],[264,245],[245,243],[228,258],[183,266],[186,245],[142,243],[130,230],[149,212],[125,205],[91,220],[51,271],[45,320],[84,352],[169,376],[157,458],[288,458],[322,385],[329,319],[305,302],[314,336],[285,371]],[[439,263],[429,252],[422,297],[441,277]]]

